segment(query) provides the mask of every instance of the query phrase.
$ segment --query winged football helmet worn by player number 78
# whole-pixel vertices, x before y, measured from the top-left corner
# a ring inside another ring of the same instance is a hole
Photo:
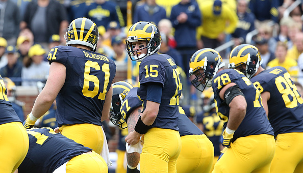
[[[205,48],[192,55],[189,66],[189,75],[196,76],[191,83],[197,90],[203,92],[206,87],[211,87],[213,77],[225,66],[225,63],[219,52]]]

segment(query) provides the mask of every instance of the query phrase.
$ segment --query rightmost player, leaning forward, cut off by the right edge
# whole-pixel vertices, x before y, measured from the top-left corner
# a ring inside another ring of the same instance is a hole
[[[264,70],[261,62],[258,49],[249,44],[235,47],[230,55],[230,67],[249,75],[259,89],[273,128],[276,147],[270,172],[303,172],[303,99],[284,67]]]

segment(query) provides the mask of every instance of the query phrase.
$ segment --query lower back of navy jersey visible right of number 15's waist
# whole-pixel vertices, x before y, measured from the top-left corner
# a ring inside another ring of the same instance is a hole
[[[182,108],[180,107],[180,109]],[[180,112],[182,112],[182,110]],[[180,136],[204,134],[195,124],[193,124],[186,117],[185,113],[184,114],[180,113],[179,115],[178,128],[179,128]]]

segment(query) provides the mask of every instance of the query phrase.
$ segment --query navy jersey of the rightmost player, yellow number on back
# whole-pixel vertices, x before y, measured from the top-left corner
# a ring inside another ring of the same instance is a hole
[[[251,78],[260,92],[269,92],[268,119],[274,135],[303,132],[303,99],[284,67],[273,67]]]

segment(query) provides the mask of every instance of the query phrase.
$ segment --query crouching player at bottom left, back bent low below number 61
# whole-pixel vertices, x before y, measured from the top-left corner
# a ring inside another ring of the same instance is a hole
[[[52,128],[27,129],[30,148],[18,172],[108,172],[105,160]],[[57,169],[57,170],[56,170]]]

